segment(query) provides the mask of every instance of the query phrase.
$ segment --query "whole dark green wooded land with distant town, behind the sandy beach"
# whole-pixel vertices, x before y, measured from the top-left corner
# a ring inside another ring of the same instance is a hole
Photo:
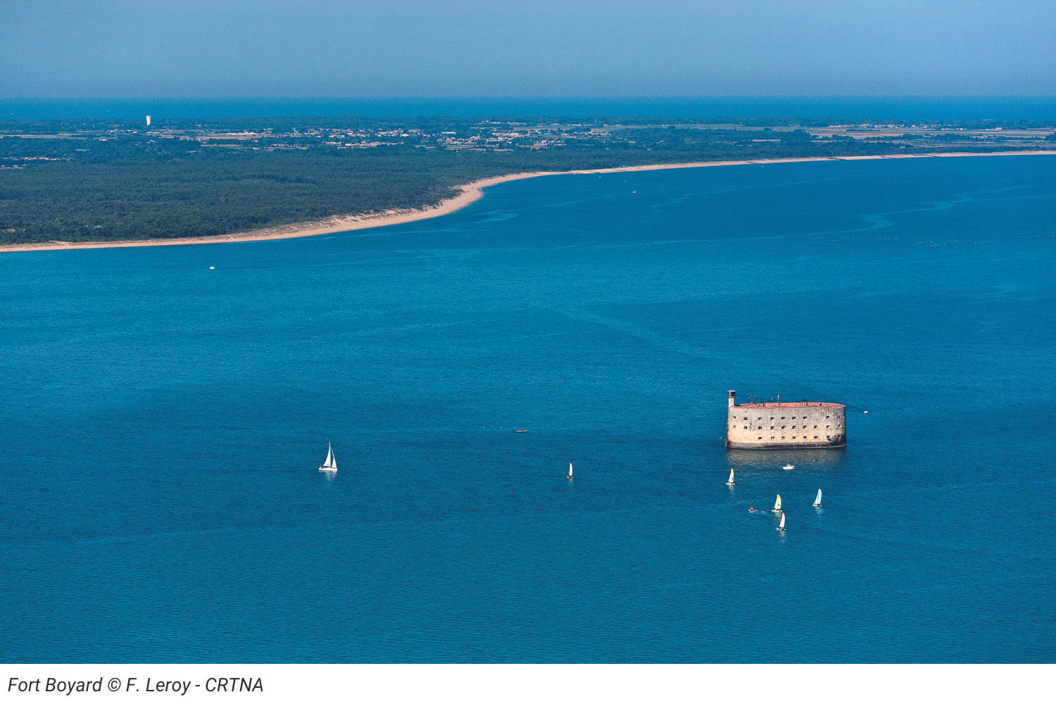
[[[420,208],[460,184],[523,171],[1051,148],[1054,127],[903,131],[724,117],[0,121],[0,244],[218,235]]]

